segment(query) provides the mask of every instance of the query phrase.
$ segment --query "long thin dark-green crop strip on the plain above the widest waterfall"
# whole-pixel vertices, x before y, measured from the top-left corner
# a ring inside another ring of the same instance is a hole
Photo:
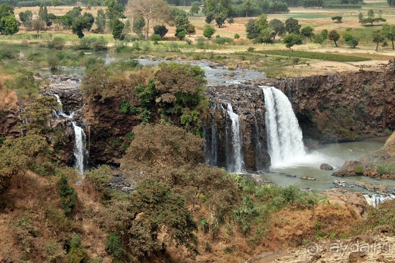
[[[289,56],[297,58],[307,58],[307,59],[320,59],[327,61],[337,61],[337,62],[356,62],[356,61],[367,61],[370,58],[347,56],[339,54],[328,54],[321,52],[308,52],[308,51],[289,51],[289,50],[262,50],[257,51],[261,54],[278,55],[278,56]]]

